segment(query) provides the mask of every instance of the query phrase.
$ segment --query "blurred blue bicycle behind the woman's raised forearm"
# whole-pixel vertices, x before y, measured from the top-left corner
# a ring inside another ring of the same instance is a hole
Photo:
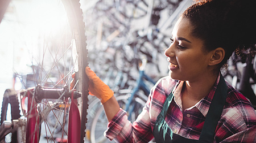
[[[142,59],[137,85],[133,89],[122,89],[119,90],[118,93],[115,93],[115,98],[117,99],[119,106],[127,111],[128,119],[131,122],[134,122],[137,116],[142,112],[143,107],[147,102],[150,89],[155,84],[155,81],[145,73],[146,64],[147,60]],[[89,110],[93,110],[93,108],[95,110],[97,107],[96,105],[100,105],[100,101],[97,100],[97,102],[94,102],[92,108],[90,107],[92,104],[89,104]],[[93,116],[90,131],[86,132],[90,134],[90,137],[88,138],[90,142],[110,142],[108,138],[104,137],[104,131],[106,130],[107,125],[108,119],[106,118],[103,107],[100,106]]]

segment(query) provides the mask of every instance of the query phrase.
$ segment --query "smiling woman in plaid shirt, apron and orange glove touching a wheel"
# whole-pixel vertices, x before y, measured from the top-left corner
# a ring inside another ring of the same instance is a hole
[[[105,136],[117,142],[256,142],[255,110],[220,73],[234,50],[255,48],[255,6],[255,0],[212,0],[187,8],[164,53],[170,75],[151,89],[134,123],[87,67],[89,91],[109,120]]]

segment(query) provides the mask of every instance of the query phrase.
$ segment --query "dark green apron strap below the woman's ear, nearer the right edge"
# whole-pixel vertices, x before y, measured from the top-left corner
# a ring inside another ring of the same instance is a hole
[[[226,82],[222,75],[220,75],[220,82],[218,83],[216,92],[210,104],[207,118],[205,119],[204,126],[200,135],[200,141],[212,142],[218,120],[220,120],[222,110],[226,102],[228,89]]]

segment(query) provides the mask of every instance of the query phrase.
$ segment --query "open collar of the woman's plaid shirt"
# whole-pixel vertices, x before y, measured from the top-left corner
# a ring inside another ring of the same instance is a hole
[[[197,102],[195,106],[192,106],[189,109],[193,109],[193,107],[196,107],[204,116],[207,115],[209,107],[210,107],[210,103],[212,102],[214,93],[217,89],[217,85],[220,81],[220,74],[221,73],[218,74],[217,80],[216,80],[212,90],[210,90],[208,96],[205,96],[203,99],[201,99],[199,102]],[[181,90],[183,88],[183,85],[184,85],[184,81],[179,81],[176,84],[174,90],[172,90],[172,94],[174,94],[174,101],[180,107],[180,110],[182,110]]]

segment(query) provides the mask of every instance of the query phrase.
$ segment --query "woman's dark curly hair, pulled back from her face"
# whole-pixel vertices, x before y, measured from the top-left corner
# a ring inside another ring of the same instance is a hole
[[[225,50],[220,67],[233,51],[255,51],[255,0],[196,1],[183,12],[181,18],[191,22],[192,34],[204,41],[205,50],[217,47]]]

